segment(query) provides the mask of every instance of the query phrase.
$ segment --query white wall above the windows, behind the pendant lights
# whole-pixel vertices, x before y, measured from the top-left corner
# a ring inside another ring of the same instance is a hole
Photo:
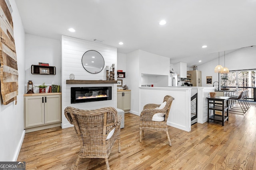
[[[224,52],[220,57],[220,64],[224,66]],[[246,70],[256,69],[256,46],[241,48],[225,55],[225,66],[229,70]],[[198,66],[202,71],[202,86],[212,87],[213,84],[206,84],[206,76],[212,76],[212,82],[218,81],[218,73],[214,72],[215,66],[218,65],[219,59]],[[216,87],[217,88],[217,87]]]

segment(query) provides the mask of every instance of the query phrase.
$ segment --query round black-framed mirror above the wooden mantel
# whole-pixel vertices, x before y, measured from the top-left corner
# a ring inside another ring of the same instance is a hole
[[[104,59],[98,51],[86,51],[82,57],[84,69],[90,73],[96,74],[104,68]]]

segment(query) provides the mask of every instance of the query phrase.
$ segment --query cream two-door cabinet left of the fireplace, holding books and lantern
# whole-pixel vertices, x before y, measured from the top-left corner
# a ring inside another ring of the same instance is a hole
[[[24,94],[24,121],[25,129],[60,123],[60,93]]]

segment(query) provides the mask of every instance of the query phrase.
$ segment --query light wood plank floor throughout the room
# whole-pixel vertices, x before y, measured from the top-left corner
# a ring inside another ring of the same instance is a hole
[[[256,107],[245,115],[230,114],[221,123],[196,123],[190,132],[169,127],[172,146],[166,133],[145,131],[139,142],[139,116],[125,114],[121,129],[121,153],[118,143],[109,157],[112,170],[255,170]],[[60,127],[26,133],[18,161],[26,169],[72,169],[79,152],[74,129]],[[85,158],[78,169],[106,169],[104,159]]]

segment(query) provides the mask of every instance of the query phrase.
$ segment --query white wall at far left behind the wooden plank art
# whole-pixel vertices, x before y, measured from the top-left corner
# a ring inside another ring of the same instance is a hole
[[[23,114],[23,94],[25,82],[25,32],[20,19],[15,0],[10,0],[12,6],[12,21],[14,25],[14,40],[16,46],[18,64],[18,96],[17,104],[11,102],[0,104],[0,161],[16,161],[22,141],[25,135],[24,114]],[[2,98],[2,97],[1,97]],[[21,160],[22,161],[22,160]]]

